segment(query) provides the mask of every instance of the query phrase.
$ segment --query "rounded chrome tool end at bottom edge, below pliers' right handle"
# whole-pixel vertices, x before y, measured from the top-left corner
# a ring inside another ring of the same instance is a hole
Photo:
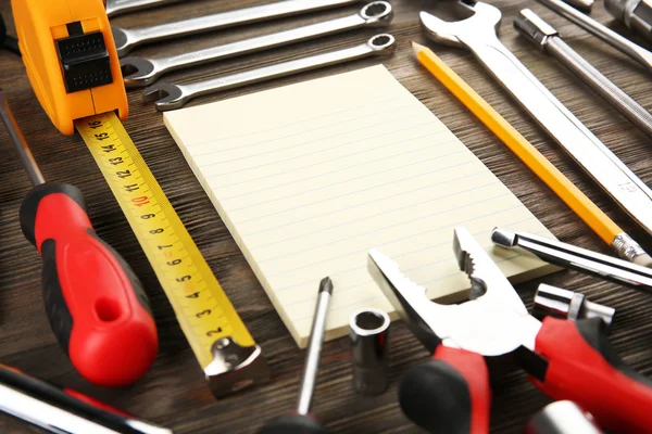
[[[590,413],[570,400],[557,400],[535,414],[523,434],[602,434]]]

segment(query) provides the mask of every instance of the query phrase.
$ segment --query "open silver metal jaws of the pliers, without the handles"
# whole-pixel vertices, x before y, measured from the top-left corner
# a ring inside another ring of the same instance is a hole
[[[506,355],[522,345],[532,349],[541,323],[528,315],[487,252],[464,228],[455,229],[453,248],[460,269],[471,279],[469,301],[459,305],[431,302],[424,286],[406,278],[377,250],[369,251],[368,269],[429,350],[439,344],[482,356]]]

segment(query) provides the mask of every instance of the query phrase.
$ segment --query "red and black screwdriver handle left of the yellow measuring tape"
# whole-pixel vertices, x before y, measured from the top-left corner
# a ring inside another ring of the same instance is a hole
[[[102,386],[134,383],[154,361],[156,327],[138,278],[95,233],[82,192],[37,186],[20,216],[43,260],[50,326],[77,371]]]

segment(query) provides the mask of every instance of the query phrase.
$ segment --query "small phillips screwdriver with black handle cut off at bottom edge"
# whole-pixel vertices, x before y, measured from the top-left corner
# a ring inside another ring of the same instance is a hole
[[[333,295],[333,281],[330,278],[322,279],[317,295],[317,306],[313,318],[310,342],[305,354],[305,363],[299,386],[299,400],[297,410],[291,414],[281,416],[263,426],[258,434],[326,434],[328,430],[310,416],[312,397],[315,391],[319,360],[322,358],[322,345],[324,344],[324,332],[326,331],[326,315],[328,303]]]

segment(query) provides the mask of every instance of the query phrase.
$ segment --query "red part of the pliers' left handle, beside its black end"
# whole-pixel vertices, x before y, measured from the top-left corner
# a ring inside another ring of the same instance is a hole
[[[471,393],[469,434],[489,433],[491,386],[485,357],[465,349],[439,345],[435,350],[434,358],[446,361],[466,380]]]

